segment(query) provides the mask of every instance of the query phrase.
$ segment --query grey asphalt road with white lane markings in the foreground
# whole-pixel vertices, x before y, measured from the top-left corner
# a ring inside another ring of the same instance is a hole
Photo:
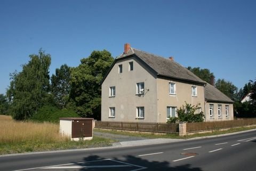
[[[0,170],[256,170],[256,131],[181,142],[1,156]]]

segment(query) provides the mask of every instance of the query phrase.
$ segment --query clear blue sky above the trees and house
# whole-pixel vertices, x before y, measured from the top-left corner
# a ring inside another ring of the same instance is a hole
[[[210,69],[238,88],[256,78],[256,1],[0,0],[0,93],[29,54],[51,54],[50,75],[93,50],[124,44]]]

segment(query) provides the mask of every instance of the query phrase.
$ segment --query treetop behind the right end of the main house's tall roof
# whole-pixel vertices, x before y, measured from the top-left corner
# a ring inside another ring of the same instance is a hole
[[[199,67],[197,67],[197,68],[188,67],[188,70],[193,72],[193,74],[195,74],[197,77],[201,78],[205,82],[207,82],[211,85],[214,85],[215,76],[213,75],[212,72],[210,72],[209,69],[200,69]]]

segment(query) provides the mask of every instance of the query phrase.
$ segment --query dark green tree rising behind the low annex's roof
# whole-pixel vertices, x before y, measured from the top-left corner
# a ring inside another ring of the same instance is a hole
[[[222,93],[226,94],[231,100],[237,100],[237,87],[225,79],[218,79],[215,87]]]

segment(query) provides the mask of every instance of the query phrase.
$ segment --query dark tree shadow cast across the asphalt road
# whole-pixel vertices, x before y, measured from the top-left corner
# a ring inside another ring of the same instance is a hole
[[[75,164],[78,166],[87,166],[80,169],[80,171],[135,171],[135,170],[179,170],[179,171],[203,171],[198,167],[191,167],[191,165],[180,165],[180,166],[171,166],[171,163],[168,161],[148,161],[134,156],[124,156],[121,160],[117,158],[106,159],[99,156],[89,156],[84,158],[83,163]],[[94,167],[95,165],[99,166]],[[105,167],[105,166],[113,167]],[[91,166],[91,168],[89,167]]]

